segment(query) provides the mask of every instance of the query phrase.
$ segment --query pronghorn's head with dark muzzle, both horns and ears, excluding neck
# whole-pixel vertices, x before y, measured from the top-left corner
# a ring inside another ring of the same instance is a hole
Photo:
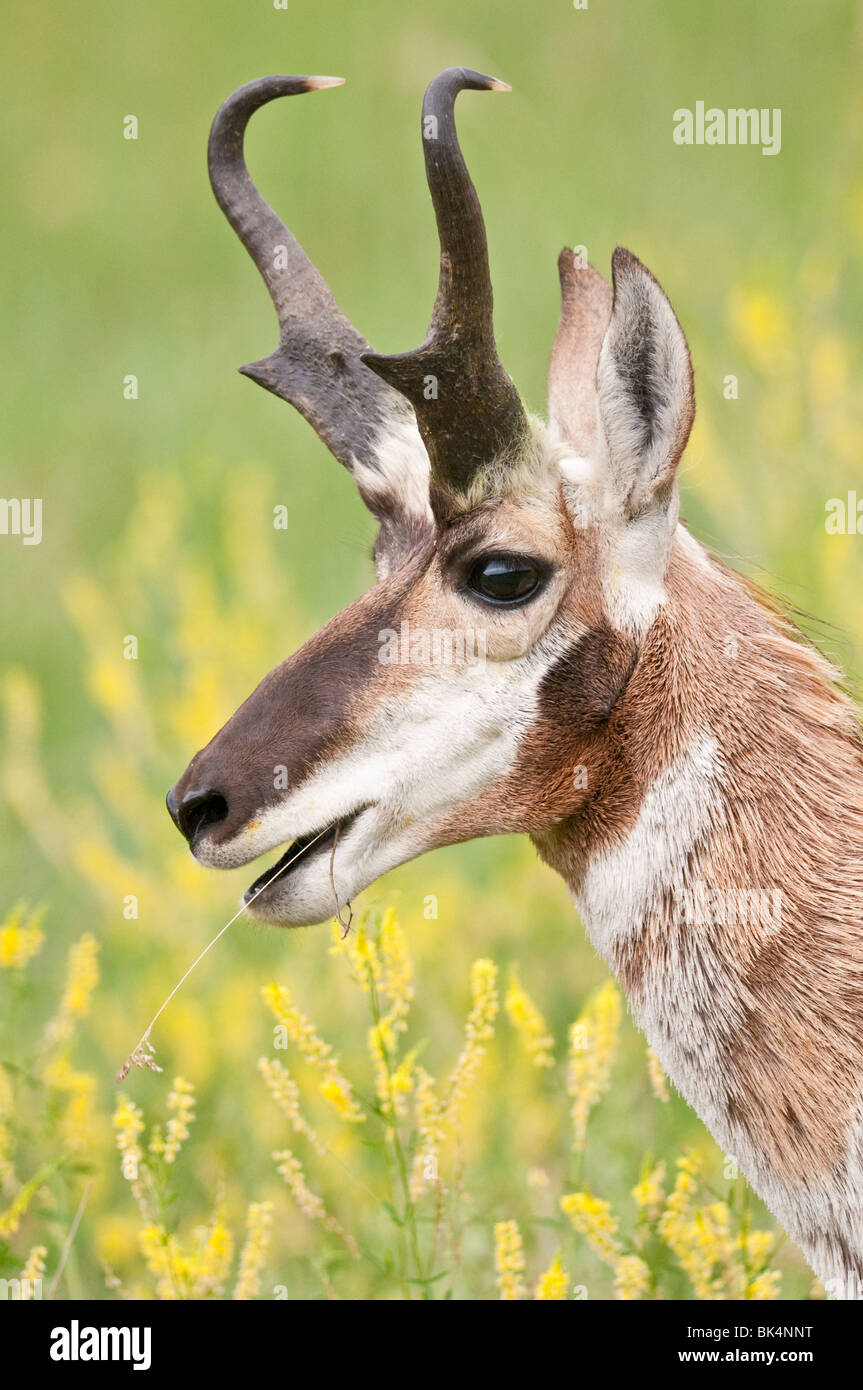
[[[202,865],[290,845],[246,894],[286,926],[327,919],[428,849],[510,831],[542,844],[578,824],[598,796],[584,767],[602,764],[663,603],[693,413],[674,311],[620,249],[613,289],[561,253],[550,423],[524,410],[495,346],[453,121],[459,92],[507,89],[466,68],[436,76],[422,106],[441,239],[431,327],[414,352],[374,353],[243,161],[260,106],[338,81],[240,88],[213,124],[210,177],[281,325],[275,352],[240,370],[353,475],[379,521],[377,584],[261,681],[168,794]]]

